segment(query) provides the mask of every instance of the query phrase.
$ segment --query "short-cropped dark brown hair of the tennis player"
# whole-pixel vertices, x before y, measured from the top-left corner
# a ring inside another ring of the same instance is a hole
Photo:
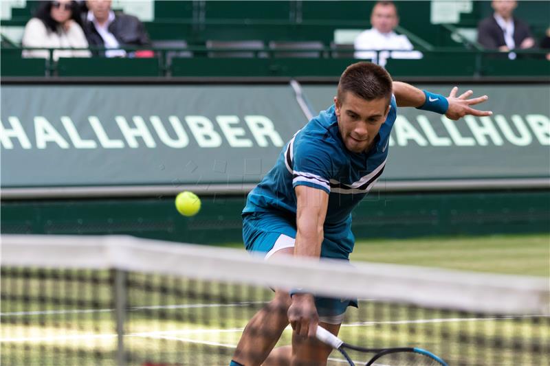
[[[347,91],[364,100],[386,98],[388,104],[393,90],[391,76],[372,62],[356,62],[349,65],[338,82],[338,100],[342,102]]]

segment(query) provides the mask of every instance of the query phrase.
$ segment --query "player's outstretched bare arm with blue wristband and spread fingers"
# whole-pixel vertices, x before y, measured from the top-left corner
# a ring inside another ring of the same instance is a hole
[[[473,91],[466,91],[457,97],[458,91],[458,87],[452,88],[449,96],[445,98],[443,95],[420,90],[406,82],[393,82],[393,94],[397,106],[414,106],[425,111],[440,113],[454,120],[465,115],[487,116],[493,114],[492,111],[479,111],[472,108],[472,106],[488,100],[487,95],[469,99],[474,93]]]

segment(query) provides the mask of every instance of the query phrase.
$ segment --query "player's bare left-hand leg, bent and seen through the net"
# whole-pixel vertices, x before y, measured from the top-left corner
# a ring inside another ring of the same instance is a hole
[[[292,254],[293,248],[286,248],[277,251],[272,255]],[[250,319],[243,330],[241,340],[236,347],[233,360],[241,365],[285,365],[284,359],[289,359],[288,355],[274,354],[270,356],[270,361],[264,363],[267,356],[272,352],[273,347],[281,338],[283,330],[289,324],[287,310],[290,306],[290,296],[284,290],[275,290],[275,296],[269,304],[264,306],[254,317]],[[282,358],[282,359],[281,359]]]

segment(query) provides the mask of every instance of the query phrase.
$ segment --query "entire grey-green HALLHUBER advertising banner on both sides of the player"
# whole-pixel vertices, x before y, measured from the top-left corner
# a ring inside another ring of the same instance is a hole
[[[547,85],[460,87],[494,115],[399,108],[383,180],[550,176]],[[303,93],[316,115],[336,84]],[[285,84],[5,85],[0,122],[2,187],[78,187],[256,183],[307,120]]]

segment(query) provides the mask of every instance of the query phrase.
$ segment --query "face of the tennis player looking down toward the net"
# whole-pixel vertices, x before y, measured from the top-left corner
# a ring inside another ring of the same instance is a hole
[[[369,150],[388,117],[388,100],[364,100],[347,91],[343,100],[334,97],[334,104],[340,136],[346,148],[357,153]]]

